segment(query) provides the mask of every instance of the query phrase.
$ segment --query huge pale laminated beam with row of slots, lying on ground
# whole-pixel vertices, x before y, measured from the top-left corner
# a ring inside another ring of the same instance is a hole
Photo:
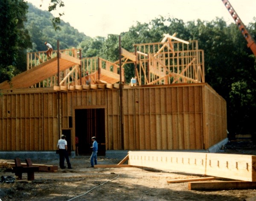
[[[256,156],[198,152],[129,151],[129,165],[256,181]]]

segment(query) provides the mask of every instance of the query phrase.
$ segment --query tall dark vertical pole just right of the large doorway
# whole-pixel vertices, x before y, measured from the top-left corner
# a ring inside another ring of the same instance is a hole
[[[124,149],[124,123],[123,123],[123,110],[122,110],[122,49],[121,49],[121,36],[119,35],[119,73],[120,73],[120,84],[119,84],[119,96],[120,96],[120,140],[121,149]]]

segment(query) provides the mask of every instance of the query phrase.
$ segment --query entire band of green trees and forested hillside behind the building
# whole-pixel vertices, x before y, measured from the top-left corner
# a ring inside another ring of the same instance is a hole
[[[54,49],[57,40],[60,41],[60,49],[80,48],[83,57],[99,56],[110,61],[119,58],[118,35],[90,38],[63,21],[61,30],[55,31],[50,20],[52,15],[48,11],[41,11],[29,4],[26,22],[23,10],[26,6],[20,0],[0,3],[6,6],[6,10],[0,12],[0,81],[24,71],[26,51],[46,50],[45,41],[51,43]],[[18,3],[22,6],[17,8]],[[14,9],[16,12],[12,11]],[[11,20],[15,17],[20,17],[19,26]],[[23,21],[25,27],[22,26]],[[84,24],[86,26],[86,22]],[[256,19],[252,19],[247,29],[256,38]],[[163,34],[174,32],[183,40],[198,40],[199,49],[204,50],[205,80],[227,101],[230,134],[252,134],[256,138],[256,57],[247,48],[247,42],[236,24],[227,25],[220,18],[210,22],[197,20],[184,23],[176,18],[158,17],[149,23],[137,22],[128,32],[121,33],[121,45],[133,52],[135,43],[160,42]],[[6,43],[8,46],[4,46]],[[3,50],[3,47],[6,49]],[[134,66],[127,65],[125,78],[130,80],[131,77],[134,77]]]

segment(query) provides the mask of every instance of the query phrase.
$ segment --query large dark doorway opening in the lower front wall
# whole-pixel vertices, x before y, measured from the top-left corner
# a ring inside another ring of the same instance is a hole
[[[105,109],[75,109],[75,130],[79,138],[79,155],[90,155],[93,136],[98,143],[98,155],[104,155],[105,145]]]

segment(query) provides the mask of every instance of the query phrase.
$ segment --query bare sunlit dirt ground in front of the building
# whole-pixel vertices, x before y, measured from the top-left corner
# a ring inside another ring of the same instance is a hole
[[[249,142],[227,144],[223,153],[256,155],[256,145]],[[6,161],[1,160],[0,161]],[[35,172],[31,183],[0,183],[2,201],[256,201],[254,190],[188,190],[188,183],[168,184],[167,180],[196,178],[202,175],[163,172],[139,168],[87,168],[89,156],[70,159],[73,169]],[[120,160],[98,157],[99,164],[118,164]],[[13,160],[9,160],[13,162]],[[58,165],[58,160],[32,161]],[[3,176],[14,176],[1,172]],[[26,174],[23,173],[23,178]],[[250,198],[250,199],[249,199]]]

